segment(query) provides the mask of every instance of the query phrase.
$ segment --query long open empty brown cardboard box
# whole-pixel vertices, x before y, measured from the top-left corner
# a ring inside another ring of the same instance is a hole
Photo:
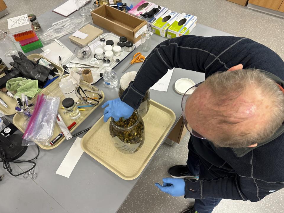
[[[136,43],[147,30],[147,22],[118,9],[103,5],[91,12],[93,23],[115,33],[126,36],[128,41]]]

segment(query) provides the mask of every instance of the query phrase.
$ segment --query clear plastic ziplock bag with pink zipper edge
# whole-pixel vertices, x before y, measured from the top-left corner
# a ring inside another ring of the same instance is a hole
[[[22,146],[36,144],[44,145],[53,135],[59,97],[38,95],[33,115],[30,117],[23,135]]]

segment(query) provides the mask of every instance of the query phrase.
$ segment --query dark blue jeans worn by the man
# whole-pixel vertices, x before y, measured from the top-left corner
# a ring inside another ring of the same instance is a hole
[[[191,141],[189,141],[189,143],[191,143]],[[194,176],[199,176],[199,158],[194,153],[192,153],[190,149],[188,152],[188,160],[186,163],[189,171]],[[202,176],[202,174],[200,175]],[[199,179],[202,179],[202,177],[199,176]],[[222,199],[220,198],[209,198],[209,197],[208,198],[205,197],[204,199],[195,199],[194,209],[198,213],[211,213],[214,207],[217,206],[221,200]]]

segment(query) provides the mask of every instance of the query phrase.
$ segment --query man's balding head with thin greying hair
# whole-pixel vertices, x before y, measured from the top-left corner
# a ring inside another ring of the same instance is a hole
[[[284,94],[261,71],[228,71],[209,76],[196,88],[185,105],[186,119],[215,146],[256,146],[282,125]]]

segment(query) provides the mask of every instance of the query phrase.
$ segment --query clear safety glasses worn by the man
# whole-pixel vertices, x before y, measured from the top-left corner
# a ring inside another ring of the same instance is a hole
[[[183,113],[183,122],[184,122],[184,125],[185,127],[187,128],[187,130],[192,134],[194,135],[195,137],[197,138],[201,138],[201,139],[206,139],[204,138],[202,135],[200,135],[199,133],[197,133],[196,131],[194,131],[191,126],[188,124],[187,120],[186,120],[186,116],[185,116],[185,104],[187,103],[188,101],[188,98],[191,96],[191,94],[196,90],[196,88],[201,84],[203,83],[200,82],[196,85],[194,85],[193,87],[189,88],[183,95],[183,99],[181,100],[181,109],[182,109],[182,113]],[[188,103],[190,104],[190,103]]]

